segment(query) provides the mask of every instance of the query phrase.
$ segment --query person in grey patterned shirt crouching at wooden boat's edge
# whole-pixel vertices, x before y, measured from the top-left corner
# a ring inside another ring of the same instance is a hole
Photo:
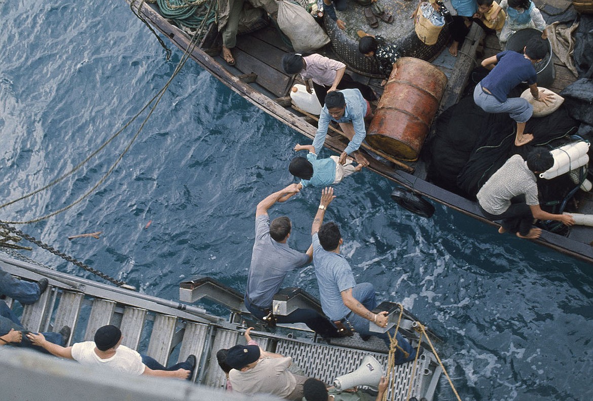
[[[543,147],[536,147],[524,161],[513,155],[496,171],[477,194],[484,217],[502,220],[499,233],[516,233],[519,238],[535,239],[541,229],[532,228],[533,219],[557,220],[566,226],[575,224],[570,214],[552,214],[541,210],[538,200],[537,174],[550,169],[554,158]]]

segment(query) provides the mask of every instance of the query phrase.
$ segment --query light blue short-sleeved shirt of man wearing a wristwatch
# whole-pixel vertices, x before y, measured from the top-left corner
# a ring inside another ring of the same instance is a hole
[[[342,301],[340,293],[356,287],[350,265],[344,256],[323,249],[317,233],[313,234],[313,265],[323,313],[333,321],[343,319],[350,309]]]

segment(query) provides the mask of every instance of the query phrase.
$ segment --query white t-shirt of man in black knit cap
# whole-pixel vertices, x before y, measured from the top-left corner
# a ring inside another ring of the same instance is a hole
[[[81,364],[108,366],[111,369],[129,374],[140,375],[144,373],[145,369],[140,354],[125,345],[117,347],[113,357],[101,359],[95,354],[94,341],[77,342],[72,345],[72,358]]]

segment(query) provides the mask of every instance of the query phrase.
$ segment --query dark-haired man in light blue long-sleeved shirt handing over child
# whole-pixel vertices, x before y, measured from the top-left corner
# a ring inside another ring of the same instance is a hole
[[[350,140],[346,149],[340,155],[339,163],[346,162],[346,156],[354,156],[356,162],[366,167],[368,160],[357,152],[366,137],[365,118],[372,118],[371,104],[362,97],[358,89],[343,89],[332,91],[326,96],[326,104],[321,108],[317,133],[313,140],[315,153],[319,154],[326,142],[327,129],[330,121],[340,124],[344,135]]]

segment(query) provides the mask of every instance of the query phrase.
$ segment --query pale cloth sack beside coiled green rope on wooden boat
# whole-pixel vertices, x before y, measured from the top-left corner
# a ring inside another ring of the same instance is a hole
[[[289,1],[278,3],[280,30],[291,40],[295,52],[314,52],[330,43],[330,38],[306,9]]]

